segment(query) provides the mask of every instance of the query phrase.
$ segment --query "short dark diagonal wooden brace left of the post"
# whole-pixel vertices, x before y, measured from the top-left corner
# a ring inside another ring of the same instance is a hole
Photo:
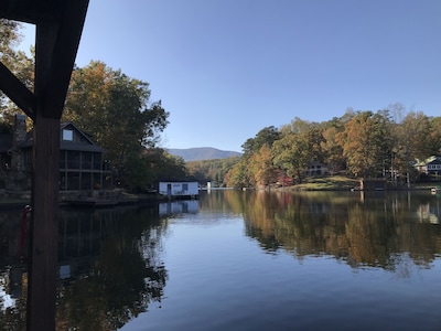
[[[0,89],[31,118],[34,118],[35,96],[0,62]]]

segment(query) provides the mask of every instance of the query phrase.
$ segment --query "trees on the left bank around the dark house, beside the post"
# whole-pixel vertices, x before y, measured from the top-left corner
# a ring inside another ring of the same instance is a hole
[[[21,23],[0,19],[0,61],[33,90],[34,56],[17,50],[21,29]],[[105,148],[114,182],[132,191],[147,190],[159,180],[187,177],[185,162],[159,147],[169,113],[161,100],[151,102],[150,95],[148,83],[92,61],[74,68],[62,117]],[[18,113],[22,111],[0,92],[2,132],[12,132]],[[32,126],[29,119],[28,129]]]

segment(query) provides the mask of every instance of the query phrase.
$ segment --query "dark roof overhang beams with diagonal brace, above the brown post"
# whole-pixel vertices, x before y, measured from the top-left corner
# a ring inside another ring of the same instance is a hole
[[[0,18],[35,24],[35,92],[0,63],[0,89],[28,116],[61,118],[89,0],[2,0]]]

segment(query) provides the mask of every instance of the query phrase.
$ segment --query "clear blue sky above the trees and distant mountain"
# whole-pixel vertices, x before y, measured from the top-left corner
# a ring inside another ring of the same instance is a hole
[[[90,0],[76,64],[149,83],[161,147],[241,151],[348,108],[441,116],[440,34],[439,0]]]

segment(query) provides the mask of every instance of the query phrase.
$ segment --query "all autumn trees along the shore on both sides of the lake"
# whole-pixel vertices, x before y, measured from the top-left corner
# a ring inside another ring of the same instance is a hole
[[[21,25],[0,20],[0,61],[33,90],[34,58],[14,47]],[[95,61],[72,74],[62,120],[73,121],[106,150],[114,178],[129,190],[159,180],[197,179],[217,186],[268,185],[289,178],[302,182],[311,162],[330,173],[363,178],[416,179],[413,164],[441,152],[441,117],[406,113],[400,104],[374,111],[348,110],[323,122],[294,118],[281,128],[261,129],[232,160],[189,162],[159,147],[169,113],[151,102],[149,84]],[[12,128],[20,113],[0,92],[0,128]],[[32,122],[29,122],[32,126]]]

